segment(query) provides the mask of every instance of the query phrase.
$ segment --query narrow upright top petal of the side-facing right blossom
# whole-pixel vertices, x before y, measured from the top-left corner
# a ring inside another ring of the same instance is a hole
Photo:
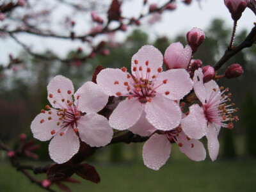
[[[204,87],[204,74],[202,72],[202,68],[198,68],[198,70],[195,70],[193,81],[194,81],[193,88],[194,88],[196,97],[202,102],[202,104],[205,104],[206,92]]]

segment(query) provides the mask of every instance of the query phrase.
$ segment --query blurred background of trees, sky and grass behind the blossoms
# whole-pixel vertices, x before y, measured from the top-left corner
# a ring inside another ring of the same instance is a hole
[[[6,2],[9,1],[0,1],[0,6]],[[28,138],[32,138],[31,121],[46,104],[49,104],[46,86],[49,80],[58,74],[71,79],[77,89],[85,81],[92,79],[93,71],[98,65],[105,68],[129,69],[132,55],[143,45],[152,44],[163,54],[173,42],[186,45],[186,33],[193,27],[200,27],[205,32],[205,42],[193,55],[193,59],[200,59],[203,65],[214,65],[230,42],[232,19],[223,1],[176,1],[175,9],[149,14],[139,20],[140,23],[137,20],[134,24],[129,23],[131,17],[136,20],[140,17],[138,13],[148,14],[149,4],[157,3],[157,7],[161,7],[166,1],[148,1],[145,6],[143,1],[139,0],[120,1],[122,17],[129,18],[127,22],[122,19],[122,24],[127,28],[102,33],[106,30],[105,21],[109,20],[108,10],[111,2],[87,1],[86,4],[81,1],[25,1],[23,6],[7,13],[6,18],[0,21],[0,138],[4,143],[11,147],[17,146],[19,134],[22,132],[26,133]],[[81,3],[80,9],[73,6],[76,3]],[[214,8],[220,9],[221,13],[218,12],[217,15]],[[35,15],[31,16],[26,11],[29,9],[33,10],[34,14],[45,12],[45,15],[36,16],[38,18],[35,19]],[[91,19],[93,10],[96,10],[104,20],[103,24],[100,24],[102,31],[98,31],[99,34],[92,32],[92,29],[99,25]],[[235,45],[242,42],[253,27],[255,15],[250,11],[247,9],[238,22]],[[222,13],[225,15],[221,15]],[[207,17],[207,21],[202,15]],[[34,17],[37,23],[35,20],[34,23],[31,22],[29,16],[32,19]],[[70,26],[70,22],[75,22],[74,26]],[[113,19],[111,22],[109,29],[115,29],[116,26],[118,28],[120,20]],[[34,34],[6,32],[19,29],[28,32],[31,29],[22,28],[25,24],[33,29]],[[45,34],[91,35],[83,42],[70,39],[72,35],[67,40],[56,36],[48,38],[35,35],[35,29],[46,31]],[[47,60],[47,57],[55,59]],[[232,131],[221,129],[220,154],[214,163],[209,157],[204,162],[193,162],[173,145],[170,159],[156,172],[143,164],[143,143],[118,143],[100,148],[88,159],[100,174],[100,184],[83,180],[82,184],[70,184],[70,188],[74,191],[256,189],[255,60],[256,47],[253,45],[236,54],[218,71],[218,74],[223,74],[229,65],[239,63],[244,73],[238,78],[223,78],[218,81],[220,86],[228,87],[232,93],[232,102],[239,108],[239,121],[234,124]],[[204,138],[202,141],[206,144]],[[51,161],[48,152],[49,142],[36,142],[41,145],[36,153],[40,162],[44,164],[45,161]],[[39,176],[42,179],[45,179],[44,177],[45,175]],[[43,191],[30,184],[21,173],[13,170],[6,161],[6,153],[3,151],[0,151],[0,178],[0,191]]]

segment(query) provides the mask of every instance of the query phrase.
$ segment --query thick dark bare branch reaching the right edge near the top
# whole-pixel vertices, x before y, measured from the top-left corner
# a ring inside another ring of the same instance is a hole
[[[252,31],[248,34],[248,36],[246,36],[246,38],[244,39],[243,42],[241,42],[241,44],[237,45],[233,49],[227,49],[224,55],[222,56],[222,58],[219,61],[217,61],[217,63],[215,63],[213,68],[215,70],[218,70],[226,61],[228,61],[232,56],[237,54],[237,52],[243,50],[246,47],[251,47],[253,44],[255,44],[255,41],[256,41],[256,26],[252,28]]]

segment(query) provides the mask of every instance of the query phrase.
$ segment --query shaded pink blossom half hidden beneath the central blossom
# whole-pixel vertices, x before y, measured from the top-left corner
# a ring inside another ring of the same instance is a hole
[[[204,145],[194,139],[190,139],[180,127],[164,134],[153,134],[143,146],[144,164],[152,170],[159,170],[170,156],[172,145],[170,141],[179,145],[180,152],[186,154],[189,159],[203,161],[206,153]]]

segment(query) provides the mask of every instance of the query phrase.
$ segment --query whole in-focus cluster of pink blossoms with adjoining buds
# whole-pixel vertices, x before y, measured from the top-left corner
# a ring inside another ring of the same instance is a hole
[[[65,163],[78,152],[80,140],[102,147],[111,142],[113,129],[128,129],[148,137],[143,161],[148,168],[159,170],[170,156],[172,143],[190,159],[204,160],[206,152],[199,140],[206,136],[214,161],[220,128],[233,128],[232,121],[238,118],[232,113],[237,109],[228,104],[228,89],[213,80],[214,68],[202,68],[202,61],[191,60],[204,42],[204,32],[194,28],[187,38],[185,48],[171,44],[164,56],[156,47],[145,45],[132,56],[131,73],[125,67],[102,69],[97,84],[86,82],[76,93],[69,79],[54,77],[47,86],[52,107],[46,106],[33,120],[34,137],[46,141],[53,136],[50,156],[56,163]],[[234,73],[232,67],[225,75],[230,73]],[[97,112],[107,105],[109,96],[120,99],[107,119]],[[186,104],[189,111],[185,112]]]

